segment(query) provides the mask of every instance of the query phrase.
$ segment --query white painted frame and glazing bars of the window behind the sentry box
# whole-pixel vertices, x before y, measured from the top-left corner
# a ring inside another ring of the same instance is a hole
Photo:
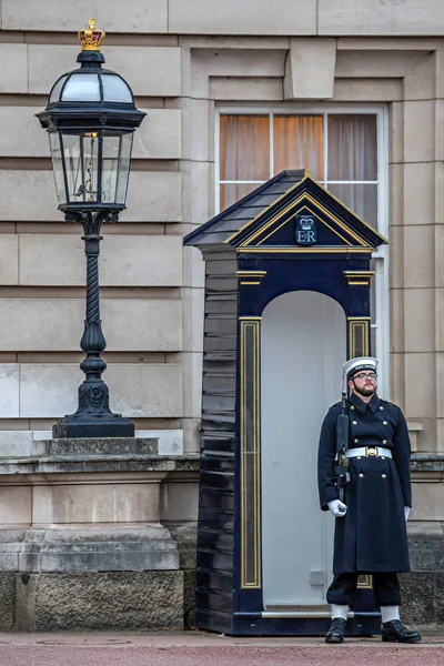
[[[389,239],[389,107],[386,104],[307,104],[307,103],[280,103],[280,104],[228,104],[215,107],[214,113],[214,211],[220,212],[220,185],[223,183],[243,183],[263,181],[221,181],[220,180],[220,118],[222,114],[231,115],[260,115],[260,114],[323,114],[324,122],[327,114],[372,114],[376,117],[376,155],[377,181],[377,231]],[[326,125],[327,127],[327,125]],[[324,140],[324,176],[327,165],[329,133]],[[273,168],[273,124],[270,123],[270,173]],[[322,181],[324,182],[324,181]],[[332,183],[350,182],[357,184],[360,181],[331,181]],[[375,340],[379,366],[379,394],[390,397],[390,299],[389,299],[389,245],[380,245],[372,254],[375,260],[375,310],[372,315],[372,327],[376,329]]]

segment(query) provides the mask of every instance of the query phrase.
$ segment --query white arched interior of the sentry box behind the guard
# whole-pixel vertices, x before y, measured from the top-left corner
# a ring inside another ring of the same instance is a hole
[[[334,519],[319,507],[317,442],[327,407],[341,398],[343,309],[317,292],[279,296],[263,312],[261,353],[264,603],[321,605]]]

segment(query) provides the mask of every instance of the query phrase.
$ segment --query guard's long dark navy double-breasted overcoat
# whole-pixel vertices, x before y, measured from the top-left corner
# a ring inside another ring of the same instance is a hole
[[[322,424],[319,446],[321,508],[337,500],[334,480],[336,418],[341,403],[330,407]],[[335,518],[333,573],[410,571],[404,506],[412,506],[411,445],[400,407],[374,395],[364,403],[356,394],[346,401],[350,448],[384,446],[393,458],[352,457],[351,482],[345,487],[347,512]]]

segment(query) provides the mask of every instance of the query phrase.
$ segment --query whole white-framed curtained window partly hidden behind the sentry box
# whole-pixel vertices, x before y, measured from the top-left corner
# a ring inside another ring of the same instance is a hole
[[[387,236],[385,109],[219,109],[216,137],[216,212],[284,169],[309,169]],[[372,351],[381,361],[381,395],[389,396],[386,246],[373,256]]]

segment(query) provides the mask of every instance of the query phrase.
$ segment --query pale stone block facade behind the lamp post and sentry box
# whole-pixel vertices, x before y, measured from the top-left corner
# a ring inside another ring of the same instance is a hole
[[[233,21],[230,3],[214,13],[211,2],[185,11],[152,0],[132,18],[97,3],[107,63],[148,113],[128,210],[104,229],[101,258],[112,408],[138,428],[180,428],[185,451],[199,450],[203,264],[181,239],[214,210],[216,107],[366,103],[387,105],[390,117],[392,398],[421,425],[420,451],[442,447],[444,42],[421,36],[440,32],[444,10],[425,4],[411,0],[401,12],[389,2],[367,14],[363,0],[321,2],[317,12],[313,0],[271,17],[258,0],[254,12],[238,2]],[[13,62],[0,72],[0,428],[8,431],[49,428],[72,411],[81,380],[80,232],[57,210],[47,137],[34,119],[57,77],[74,67],[87,8],[69,6],[61,17],[50,3],[42,18],[24,0],[7,1],[2,13],[0,54]]]

